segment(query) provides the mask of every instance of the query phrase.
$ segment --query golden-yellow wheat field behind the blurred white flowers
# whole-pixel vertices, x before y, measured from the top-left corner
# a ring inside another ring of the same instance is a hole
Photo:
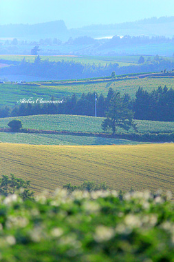
[[[21,145],[0,143],[0,174],[51,192],[67,183],[106,182],[116,190],[174,191],[173,143],[146,145]]]

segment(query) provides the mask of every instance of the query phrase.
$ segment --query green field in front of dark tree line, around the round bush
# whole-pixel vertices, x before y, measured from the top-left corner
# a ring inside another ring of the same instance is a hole
[[[27,117],[0,118],[0,128],[8,128],[12,119],[21,119],[23,128],[57,130],[69,132],[103,132],[102,117],[76,116],[68,114],[41,114]],[[173,132],[173,122],[135,120],[138,132]],[[120,131],[120,130],[118,130]]]

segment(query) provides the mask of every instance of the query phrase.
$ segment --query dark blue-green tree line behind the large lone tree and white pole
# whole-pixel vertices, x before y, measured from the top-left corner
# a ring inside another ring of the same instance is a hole
[[[35,114],[76,114],[95,116],[95,92],[82,94],[80,98],[76,94],[63,97],[63,103],[21,103],[14,108],[1,107],[0,117],[18,117]],[[116,105],[122,103],[122,110],[127,106],[128,110],[134,113],[134,119],[153,121],[174,121],[174,90],[159,87],[157,90],[147,92],[143,88],[138,88],[135,99],[131,99],[129,94],[120,95],[109,88],[107,97],[102,93],[96,94],[97,117],[107,117],[107,112],[111,109],[113,97],[116,96]],[[55,97],[52,101],[57,100]]]

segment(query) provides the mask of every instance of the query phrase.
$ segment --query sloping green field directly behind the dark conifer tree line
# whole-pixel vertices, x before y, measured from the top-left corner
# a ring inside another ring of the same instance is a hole
[[[81,94],[87,92],[102,93],[107,96],[109,88],[118,90],[121,94],[129,93],[131,97],[135,97],[139,87],[144,90],[152,91],[153,89],[162,86],[164,88],[174,88],[174,77],[152,77],[144,78],[135,77],[121,77],[119,79],[98,79],[87,81],[52,81],[52,82],[38,82],[29,85],[17,85],[15,83],[0,84],[0,105],[15,105],[20,99],[43,98],[50,99],[52,95],[56,99],[62,99],[64,96],[72,95],[74,93],[80,97]]]

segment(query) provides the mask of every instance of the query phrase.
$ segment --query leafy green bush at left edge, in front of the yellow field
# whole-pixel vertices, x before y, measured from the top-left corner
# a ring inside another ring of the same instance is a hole
[[[30,187],[30,181],[24,181],[23,179],[18,179],[11,174],[11,177],[3,175],[0,179],[0,194],[3,196],[8,196],[9,194],[14,194],[19,191],[19,196],[23,200],[33,199],[34,192],[30,192],[28,189]],[[23,191],[20,192],[20,189]]]

